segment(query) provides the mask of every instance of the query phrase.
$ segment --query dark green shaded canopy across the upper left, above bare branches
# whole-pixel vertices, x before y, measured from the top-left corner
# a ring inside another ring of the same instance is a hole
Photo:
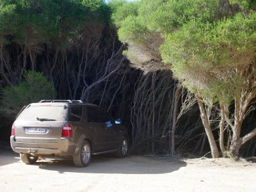
[[[93,22],[108,24],[103,0],[0,1],[0,43],[36,49],[42,44],[65,46]]]

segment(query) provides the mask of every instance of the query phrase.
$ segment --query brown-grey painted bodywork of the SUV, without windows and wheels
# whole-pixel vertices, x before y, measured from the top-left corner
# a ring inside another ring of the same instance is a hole
[[[94,154],[102,154],[104,152],[115,152],[118,149],[120,140],[123,136],[127,136],[127,130],[120,124],[115,124],[113,118],[110,116],[111,127],[107,127],[106,124],[98,122],[88,122],[87,106],[93,108],[99,108],[91,104],[67,104],[67,103],[35,103],[31,106],[44,108],[63,107],[63,110],[67,110],[63,120],[56,121],[40,121],[33,118],[33,120],[22,119],[22,113],[26,113],[25,108],[17,120],[13,123],[15,127],[15,136],[11,136],[10,143],[14,152],[28,153],[33,155],[58,155],[58,156],[74,156],[77,154],[81,143],[84,140],[88,140],[92,145],[92,152]],[[70,108],[82,107],[83,115],[79,122],[68,121],[68,114]],[[48,109],[47,109],[48,110]],[[104,111],[104,113],[107,113]],[[29,116],[29,114],[28,114]],[[35,114],[31,116],[36,116]],[[54,115],[52,115],[54,116]],[[58,116],[58,115],[55,115]],[[29,116],[30,118],[30,116]],[[51,118],[51,114],[49,117]],[[35,120],[34,120],[35,119]],[[63,124],[69,124],[72,126],[72,137],[61,137],[61,131]],[[44,128],[46,132],[27,132],[30,128]]]

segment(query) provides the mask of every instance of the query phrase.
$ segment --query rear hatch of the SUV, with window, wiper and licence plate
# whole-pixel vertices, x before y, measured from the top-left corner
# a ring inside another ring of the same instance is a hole
[[[60,103],[30,104],[13,126],[15,141],[22,143],[58,143],[67,116],[67,105]]]

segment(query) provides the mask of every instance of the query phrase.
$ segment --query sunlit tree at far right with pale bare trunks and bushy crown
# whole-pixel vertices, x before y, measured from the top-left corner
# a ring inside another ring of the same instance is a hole
[[[201,118],[211,145],[212,157],[218,157],[207,106],[219,102],[221,110],[221,151],[238,156],[241,145],[256,136],[256,129],[241,137],[241,126],[256,97],[255,33],[256,13],[223,19],[213,24],[191,21],[166,38],[162,56],[172,63],[180,81],[195,93]],[[230,105],[234,101],[234,118]],[[223,146],[223,125],[232,129],[230,148]]]

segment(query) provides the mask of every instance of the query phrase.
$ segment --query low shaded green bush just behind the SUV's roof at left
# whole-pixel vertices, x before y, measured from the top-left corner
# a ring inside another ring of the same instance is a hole
[[[24,80],[17,86],[3,89],[1,106],[8,112],[17,112],[31,102],[42,99],[54,99],[56,92],[53,84],[41,72],[26,71]]]

